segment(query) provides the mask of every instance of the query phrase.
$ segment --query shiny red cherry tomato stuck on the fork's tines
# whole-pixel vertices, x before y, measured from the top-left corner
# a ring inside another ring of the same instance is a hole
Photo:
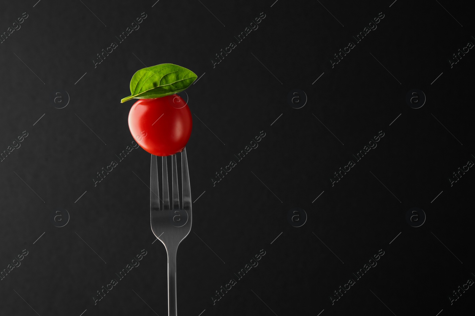
[[[180,153],[190,139],[190,108],[179,95],[139,99],[129,112],[133,139],[156,156]]]

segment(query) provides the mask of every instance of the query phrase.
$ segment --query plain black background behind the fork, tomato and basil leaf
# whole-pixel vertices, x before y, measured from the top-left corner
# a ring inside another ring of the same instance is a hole
[[[2,3],[1,33],[23,12],[28,18],[0,44],[0,151],[23,131],[28,137],[0,163],[0,269],[23,249],[28,255],[0,281],[1,315],[167,315],[167,257],[152,244],[144,184],[150,154],[134,149],[92,181],[133,141],[133,101],[119,102],[130,78],[159,63],[203,74],[186,90],[192,200],[204,194],[178,251],[179,315],[472,308],[473,287],[452,305],[449,296],[475,280],[475,171],[448,180],[475,161],[475,53],[448,62],[475,41],[472,12],[447,1],[274,1]],[[140,28],[95,68],[96,54],[142,12]],[[213,68],[215,54],[261,12],[258,29]],[[332,68],[333,54],[380,12],[377,29]],[[293,89],[304,90],[303,108],[287,103]],[[411,89],[424,91],[422,108],[406,103]],[[65,91],[69,104],[58,109]],[[261,131],[258,147],[213,187],[215,172]],[[332,186],[333,172],[379,131],[378,146]],[[301,227],[287,221],[294,207],[308,216]],[[413,207],[427,216],[420,227],[406,221]],[[70,215],[66,226],[55,226],[57,208]],[[96,291],[142,249],[140,266],[95,305]],[[213,305],[215,291],[261,249],[259,265]],[[380,249],[377,266],[332,305],[333,291]]]

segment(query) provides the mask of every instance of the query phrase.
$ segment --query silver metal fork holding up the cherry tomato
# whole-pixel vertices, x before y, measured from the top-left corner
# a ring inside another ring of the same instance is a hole
[[[163,182],[162,207],[160,208],[157,156],[152,154],[150,165],[150,224],[152,232],[165,246],[168,257],[168,315],[177,316],[176,258],[180,242],[191,230],[190,175],[186,150],[181,152],[181,185],[183,199],[178,194],[176,154],[171,156],[172,204],[168,193],[167,157],[161,157]]]

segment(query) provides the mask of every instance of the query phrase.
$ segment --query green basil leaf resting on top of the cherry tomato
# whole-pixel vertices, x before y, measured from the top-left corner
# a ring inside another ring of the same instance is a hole
[[[198,76],[179,65],[161,63],[135,72],[130,81],[130,99],[153,99],[172,95],[190,87]]]

